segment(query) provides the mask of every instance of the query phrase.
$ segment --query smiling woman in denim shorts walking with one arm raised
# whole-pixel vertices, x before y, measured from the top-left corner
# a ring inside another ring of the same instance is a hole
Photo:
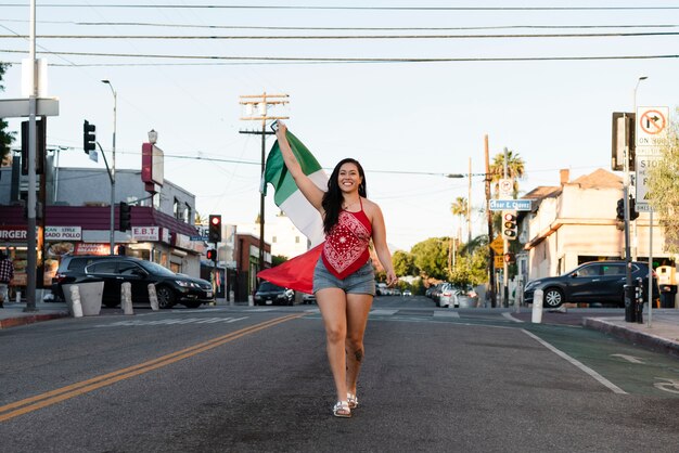
[[[303,171],[279,121],[276,132],[283,160],[299,191],[323,218],[325,243],[313,270],[313,294],[323,318],[330,368],[337,403],[333,414],[350,417],[358,406],[356,383],[363,361],[363,334],[375,295],[375,276],[368,249],[372,240],[386,271],[387,284],[397,282],[380,207],[367,198],[366,176],[351,158],[337,164],[320,190]]]

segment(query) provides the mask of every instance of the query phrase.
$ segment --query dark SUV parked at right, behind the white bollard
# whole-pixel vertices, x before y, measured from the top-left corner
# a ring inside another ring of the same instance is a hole
[[[649,264],[633,261],[632,280],[642,279],[648,288]],[[524,301],[533,303],[536,289],[542,289],[543,306],[556,308],[562,303],[615,303],[625,307],[624,285],[627,281],[625,261],[591,261],[578,266],[560,276],[531,280],[524,289]],[[644,301],[648,289],[643,290]],[[653,272],[653,298],[659,295],[657,276]]]

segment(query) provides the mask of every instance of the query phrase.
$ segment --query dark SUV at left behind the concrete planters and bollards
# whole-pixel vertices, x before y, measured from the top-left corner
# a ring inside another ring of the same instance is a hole
[[[65,257],[52,279],[52,293],[63,299],[62,285],[99,281],[104,282],[102,303],[110,308],[120,303],[120,286],[125,282],[131,283],[134,303],[149,303],[151,283],[161,308],[176,303],[197,308],[214,300],[213,287],[205,280],[177,274],[155,262],[114,255]]]

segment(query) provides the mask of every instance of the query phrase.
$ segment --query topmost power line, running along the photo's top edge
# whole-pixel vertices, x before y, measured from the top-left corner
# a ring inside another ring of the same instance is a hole
[[[5,3],[0,7],[25,8],[25,3]],[[103,3],[90,8],[167,9],[167,10],[344,10],[344,11],[663,11],[679,7],[310,7],[310,5],[252,5],[252,4],[138,4]],[[42,3],[40,8],[82,8],[80,3]]]

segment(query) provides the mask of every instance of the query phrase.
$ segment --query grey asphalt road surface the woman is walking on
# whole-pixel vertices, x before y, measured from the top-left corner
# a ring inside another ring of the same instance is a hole
[[[2,452],[676,452],[679,362],[508,310],[377,298],[360,406],[331,415],[313,306],[0,331]]]

